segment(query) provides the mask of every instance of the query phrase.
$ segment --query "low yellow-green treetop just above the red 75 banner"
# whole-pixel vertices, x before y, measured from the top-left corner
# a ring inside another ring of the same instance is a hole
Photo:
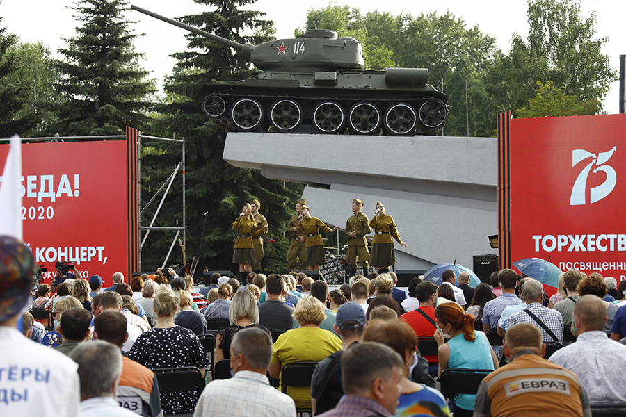
[[[602,110],[595,97],[581,100],[575,95],[566,95],[563,89],[554,87],[552,81],[545,84],[537,81],[537,85],[537,95],[529,99],[528,107],[517,109],[519,117],[595,115]]]

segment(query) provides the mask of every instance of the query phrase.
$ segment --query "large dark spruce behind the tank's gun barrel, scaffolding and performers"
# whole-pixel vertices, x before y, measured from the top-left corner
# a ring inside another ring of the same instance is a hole
[[[182,22],[239,43],[259,44],[273,34],[273,22],[262,19],[263,13],[240,9],[252,1],[195,2],[206,5],[209,10],[181,17]],[[245,35],[246,32],[252,35]],[[302,186],[266,179],[257,170],[234,167],[223,160],[225,132],[202,114],[200,106],[191,97],[206,83],[236,81],[250,76],[250,63],[229,47],[207,38],[193,34],[187,38],[188,50],[174,55],[178,64],[165,86],[166,99],[159,106],[161,116],[154,120],[150,129],[152,134],[184,137],[186,140],[186,243],[191,248],[188,257],[202,257],[211,269],[238,270],[232,263],[236,232],[231,224],[246,202],[258,198],[262,203],[261,213],[269,224],[268,234],[264,237],[276,240],[276,243],[266,245],[262,266],[268,272],[284,272],[289,241],[282,236],[283,223],[289,220],[293,202],[301,195]],[[143,156],[141,181],[144,190],[147,186],[158,188],[182,156],[178,145],[157,142],[146,142],[145,145],[158,147],[163,152]],[[260,145],[251,142],[250,152],[255,152],[257,146]],[[144,170],[144,166],[150,169]],[[163,207],[161,224],[173,225],[181,220],[182,202],[177,194],[172,191]],[[198,253],[203,215],[207,210],[202,253]],[[171,233],[150,234],[142,252],[145,268],[161,264],[172,238]]]

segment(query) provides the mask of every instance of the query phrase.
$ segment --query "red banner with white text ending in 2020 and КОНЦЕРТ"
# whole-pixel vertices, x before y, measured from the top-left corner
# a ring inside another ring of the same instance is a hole
[[[0,161],[9,145],[0,145]],[[24,241],[47,268],[74,261],[82,277],[128,270],[127,142],[22,145]]]

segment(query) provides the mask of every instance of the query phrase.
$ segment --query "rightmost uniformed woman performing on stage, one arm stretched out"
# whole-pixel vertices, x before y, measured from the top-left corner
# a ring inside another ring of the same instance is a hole
[[[390,266],[396,263],[396,250],[392,238],[396,239],[402,247],[407,247],[407,245],[400,239],[394,218],[385,213],[383,203],[376,202],[376,213],[371,218],[369,226],[374,229],[369,264],[375,266],[378,273],[389,272]]]

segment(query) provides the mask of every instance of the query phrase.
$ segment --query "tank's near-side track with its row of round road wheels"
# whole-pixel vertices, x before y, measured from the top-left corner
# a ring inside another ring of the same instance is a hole
[[[435,135],[448,110],[434,97],[307,97],[216,92],[202,111],[225,131],[378,136]]]

